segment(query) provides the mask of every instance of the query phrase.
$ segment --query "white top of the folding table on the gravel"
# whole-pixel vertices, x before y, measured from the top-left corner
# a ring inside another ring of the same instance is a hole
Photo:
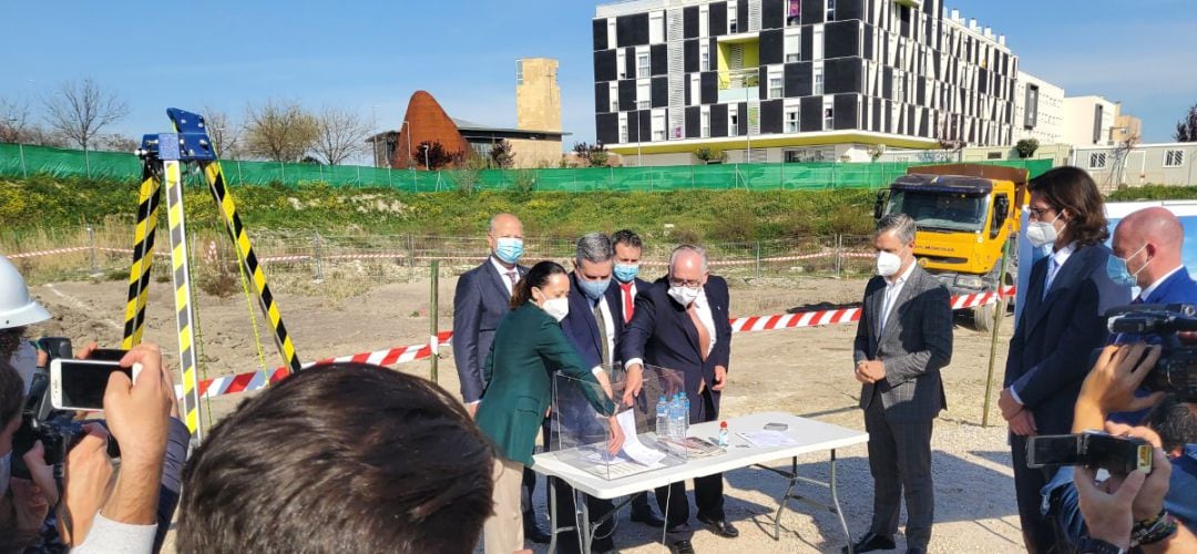
[[[563,479],[573,488],[591,497],[609,499],[650,491],[678,481],[685,481],[687,479],[713,475],[774,459],[789,458],[809,452],[830,451],[869,442],[869,433],[863,431],[855,431],[838,425],[798,418],[797,415],[780,412],[764,412],[759,414],[741,415],[737,418],[729,418],[724,421],[728,422],[728,431],[730,433],[727,453],[706,458],[689,459],[683,465],[674,465],[621,479],[606,480],[557,459],[552,452],[545,452],[533,456],[535,462],[533,469],[543,475]],[[760,449],[749,445],[745,439],[736,434],[751,431],[762,431],[765,428],[765,424],[786,424],[789,428],[785,431],[785,434],[797,440],[797,444],[791,446]],[[709,440],[715,439],[719,434],[719,422],[707,421],[705,424],[692,425],[688,434],[691,437]]]

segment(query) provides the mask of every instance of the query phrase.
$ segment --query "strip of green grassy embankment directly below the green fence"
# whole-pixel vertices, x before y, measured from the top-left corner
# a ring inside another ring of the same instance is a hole
[[[525,232],[573,238],[590,230],[622,227],[703,241],[754,241],[796,236],[871,232],[874,194],[847,190],[692,190],[668,193],[555,193],[485,190],[411,194],[394,189],[232,187],[251,230],[478,236],[503,211],[518,214]],[[138,184],[127,181],[31,177],[0,179],[0,229],[6,233],[78,230],[84,224],[132,221]],[[188,226],[218,225],[207,188],[186,190]],[[165,225],[165,205],[159,211]]]

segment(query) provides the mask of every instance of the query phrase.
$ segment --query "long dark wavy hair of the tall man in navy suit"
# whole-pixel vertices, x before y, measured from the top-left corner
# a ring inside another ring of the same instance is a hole
[[[1068,211],[1064,235],[1069,242],[1093,245],[1110,238],[1105,202],[1098,184],[1083,169],[1065,165],[1031,179],[1028,190],[1044,197],[1056,213]]]

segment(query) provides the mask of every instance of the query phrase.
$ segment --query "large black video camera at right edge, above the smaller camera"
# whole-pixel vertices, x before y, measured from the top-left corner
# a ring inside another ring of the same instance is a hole
[[[1144,389],[1172,392],[1180,402],[1197,402],[1197,345],[1181,340],[1181,334],[1197,331],[1197,305],[1136,304],[1112,308],[1106,317],[1110,333],[1123,335],[1119,342],[1142,340],[1162,346],[1160,360],[1143,379]]]

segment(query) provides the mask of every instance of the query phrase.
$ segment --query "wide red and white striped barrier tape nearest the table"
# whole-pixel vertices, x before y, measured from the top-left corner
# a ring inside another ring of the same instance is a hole
[[[953,310],[964,310],[985,304],[994,304],[998,298],[1009,298],[1015,293],[1014,287],[1005,287],[1001,293],[986,292],[979,294],[962,294],[952,298]],[[782,313],[773,316],[751,316],[731,318],[731,333],[753,333],[776,329],[797,329],[802,327],[821,327],[843,323],[852,323],[861,319],[859,308],[843,308],[836,310],[813,310],[796,313]],[[452,342],[452,331],[440,331],[436,336],[437,347],[448,346]],[[354,361],[373,365],[396,365],[408,361],[423,360],[432,355],[432,339],[429,343],[403,346],[375,352],[364,352],[339,358],[327,358],[320,361],[304,364],[303,367],[314,365]],[[267,384],[278,383],[288,375],[286,367],[277,367],[266,376],[262,372],[248,372],[230,377],[217,377],[200,382],[200,396],[211,398],[214,396],[231,395],[235,392],[249,392],[263,389]],[[182,394],[182,389],[177,391]]]

